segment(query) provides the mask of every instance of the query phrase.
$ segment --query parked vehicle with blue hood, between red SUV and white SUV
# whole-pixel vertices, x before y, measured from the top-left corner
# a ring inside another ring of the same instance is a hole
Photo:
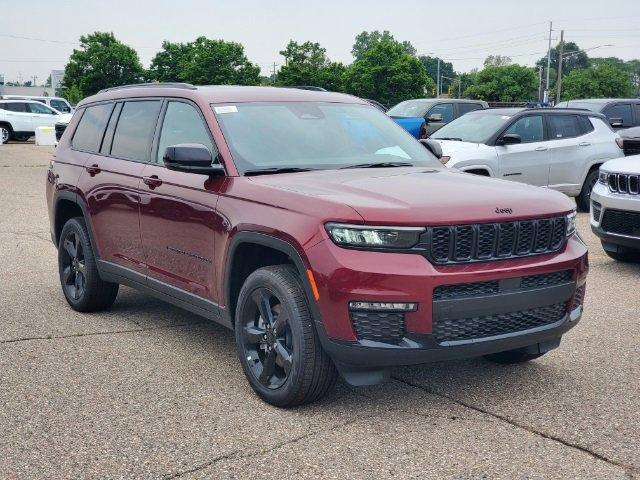
[[[421,98],[400,102],[387,115],[416,138],[426,138],[465,113],[484,108],[489,104],[482,100]]]

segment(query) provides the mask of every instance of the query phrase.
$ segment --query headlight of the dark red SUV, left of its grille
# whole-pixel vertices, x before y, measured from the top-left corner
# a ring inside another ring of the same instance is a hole
[[[413,247],[424,228],[374,227],[328,223],[327,233],[335,243],[346,247],[402,250]]]

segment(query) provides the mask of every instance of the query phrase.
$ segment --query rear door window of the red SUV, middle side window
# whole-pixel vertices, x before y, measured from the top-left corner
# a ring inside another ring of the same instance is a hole
[[[113,134],[111,155],[128,160],[149,161],[151,140],[156,129],[161,102],[126,102]]]

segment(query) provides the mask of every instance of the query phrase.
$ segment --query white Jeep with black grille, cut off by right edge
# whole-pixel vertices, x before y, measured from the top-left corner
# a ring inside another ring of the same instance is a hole
[[[591,193],[591,229],[611,258],[640,259],[640,155],[600,167]]]

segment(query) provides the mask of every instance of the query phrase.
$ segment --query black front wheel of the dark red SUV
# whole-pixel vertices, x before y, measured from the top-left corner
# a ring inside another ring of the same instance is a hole
[[[251,387],[277,407],[310,403],[335,384],[296,270],[276,265],[247,278],[236,309],[238,356]]]

